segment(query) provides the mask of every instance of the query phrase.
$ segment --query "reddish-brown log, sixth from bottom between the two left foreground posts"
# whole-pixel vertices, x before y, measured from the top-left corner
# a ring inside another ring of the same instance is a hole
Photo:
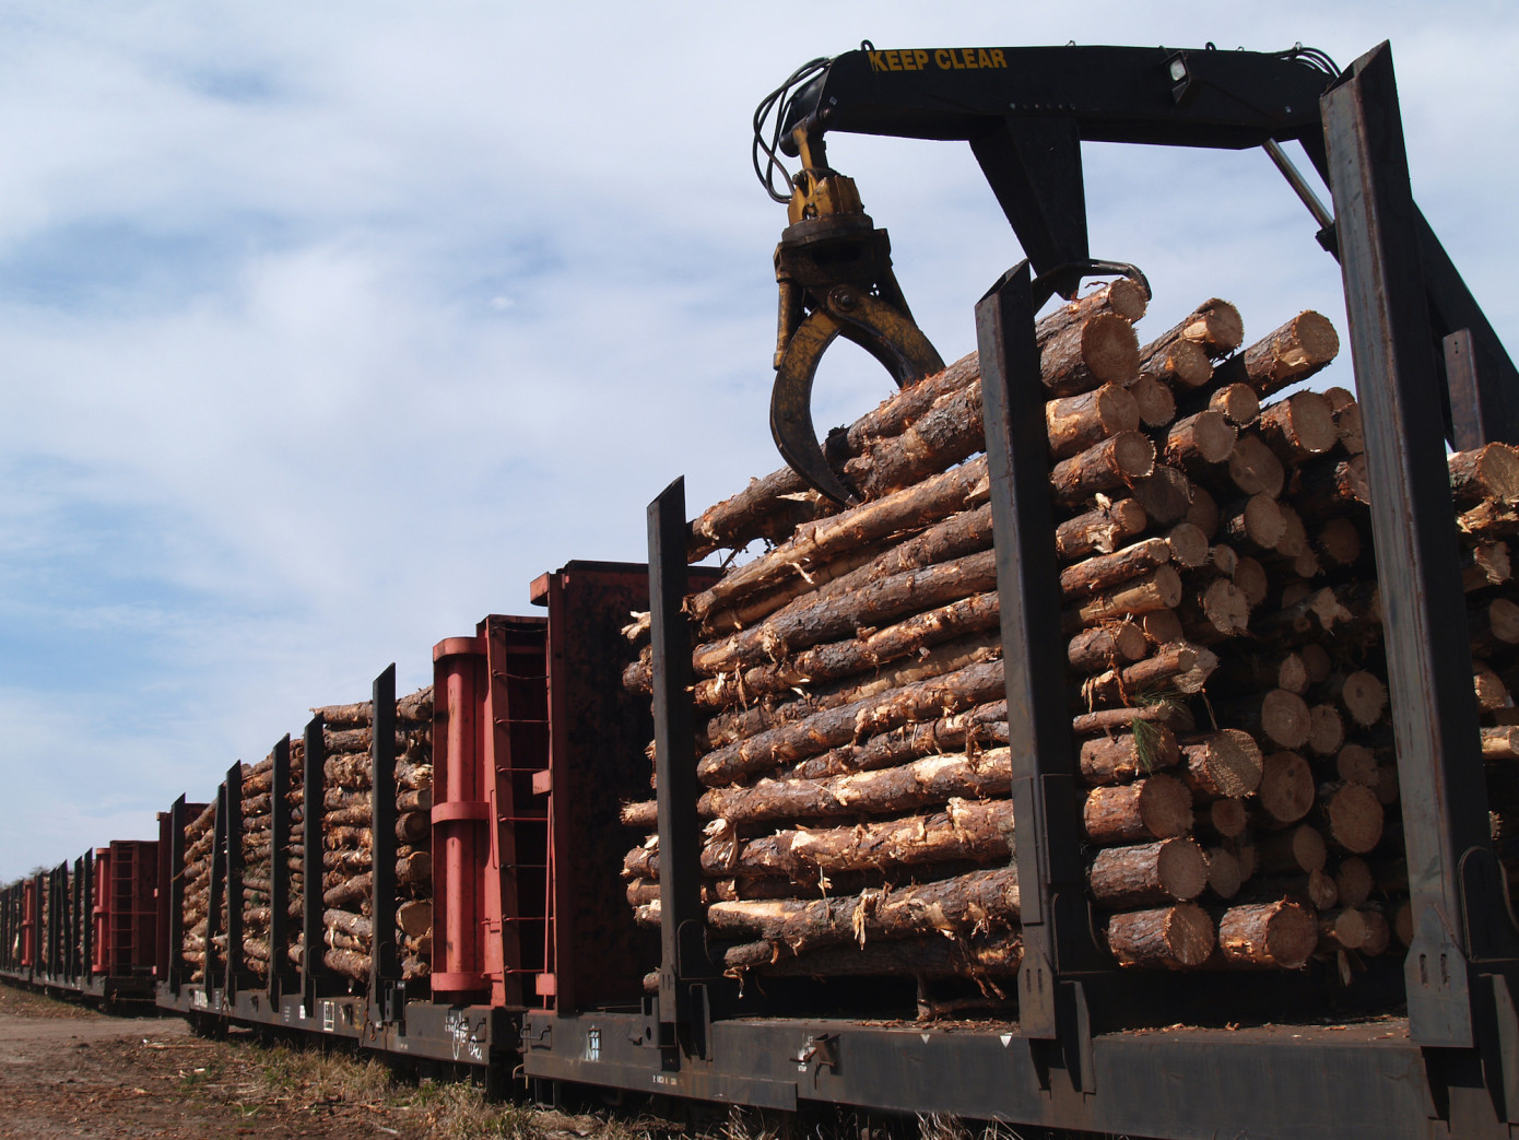
[[[986,704],[1001,695],[1001,661],[972,664],[717,748],[697,762],[697,775],[708,787],[718,787],[838,748],[861,736]]]

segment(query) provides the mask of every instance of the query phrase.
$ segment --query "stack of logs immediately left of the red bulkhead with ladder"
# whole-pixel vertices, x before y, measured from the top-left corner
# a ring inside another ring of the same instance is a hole
[[[369,701],[314,708],[327,743],[322,813],[322,961],[352,982],[369,982],[371,892]],[[396,926],[401,976],[431,976],[433,958],[433,687],[396,701]]]

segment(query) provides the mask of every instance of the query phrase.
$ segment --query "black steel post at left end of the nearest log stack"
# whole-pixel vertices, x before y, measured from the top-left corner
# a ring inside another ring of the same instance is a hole
[[[687,1023],[687,982],[706,977],[702,825],[696,815],[696,730],[687,593],[685,479],[649,505],[649,620],[653,646],[655,783],[659,810],[659,1020]]]

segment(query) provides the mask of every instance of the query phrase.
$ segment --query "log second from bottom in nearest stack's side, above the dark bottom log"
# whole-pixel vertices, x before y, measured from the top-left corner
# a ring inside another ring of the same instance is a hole
[[[969,935],[1016,920],[1018,871],[1012,866],[840,898],[720,901],[706,910],[714,930],[778,942],[791,953],[840,942],[869,945],[878,938]]]

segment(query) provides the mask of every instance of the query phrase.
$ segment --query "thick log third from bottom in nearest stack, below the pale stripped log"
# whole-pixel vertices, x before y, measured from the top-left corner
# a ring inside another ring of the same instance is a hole
[[[925,816],[784,830],[755,839],[718,836],[703,848],[702,869],[738,879],[784,874],[808,883],[840,871],[1006,860],[1012,824],[1010,800],[951,800],[943,812]]]

